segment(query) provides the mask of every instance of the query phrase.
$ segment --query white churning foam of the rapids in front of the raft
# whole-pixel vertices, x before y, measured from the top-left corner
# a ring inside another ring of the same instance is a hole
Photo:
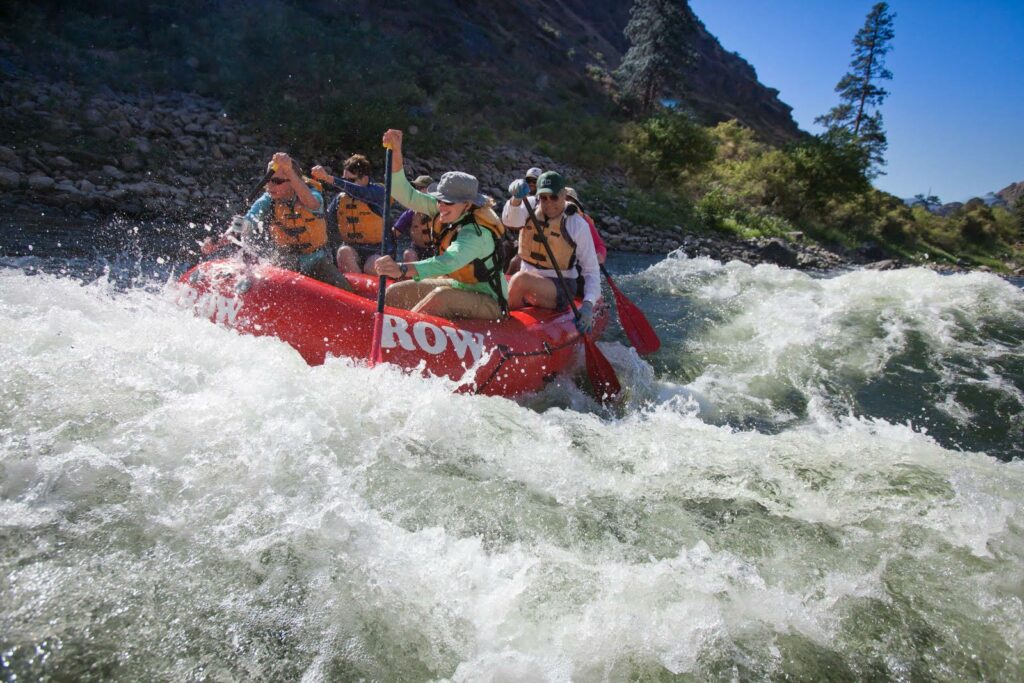
[[[793,332],[752,377],[840,341],[842,284],[785,283],[814,309],[794,314],[833,332]],[[735,330],[767,334],[744,315]],[[857,610],[880,604],[937,634],[933,675],[963,643],[1020,666],[1024,462],[868,417],[712,424],[693,387],[602,349],[652,383],[645,399],[538,412],[387,366],[310,368],[171,293],[0,271],[8,640],[127,653],[135,678],[210,661],[224,678],[708,678],[729,661],[766,678],[801,656],[792,639],[856,664]]]

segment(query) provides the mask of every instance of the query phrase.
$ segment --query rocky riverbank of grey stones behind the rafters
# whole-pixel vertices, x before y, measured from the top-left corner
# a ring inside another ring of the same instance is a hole
[[[244,210],[252,183],[276,151],[272,140],[219,102],[191,93],[84,91],[70,83],[10,78],[0,91],[0,207],[15,220],[48,212],[82,225],[122,216],[202,230],[203,224],[222,224]],[[415,154],[415,136],[410,147]],[[332,151],[308,161],[337,165],[347,155]],[[611,249],[669,253],[681,248],[689,256],[813,269],[837,267],[851,258],[873,260],[803,244],[799,234],[790,241],[740,241],[694,234],[684,225],[638,225],[611,215],[599,198],[588,198],[590,183],[582,181],[578,169],[512,146],[474,150],[472,157],[452,152],[408,159],[410,174],[439,177],[455,168],[473,172],[482,190],[497,198],[531,166],[558,168],[581,188]],[[590,180],[613,183],[610,177]]]

